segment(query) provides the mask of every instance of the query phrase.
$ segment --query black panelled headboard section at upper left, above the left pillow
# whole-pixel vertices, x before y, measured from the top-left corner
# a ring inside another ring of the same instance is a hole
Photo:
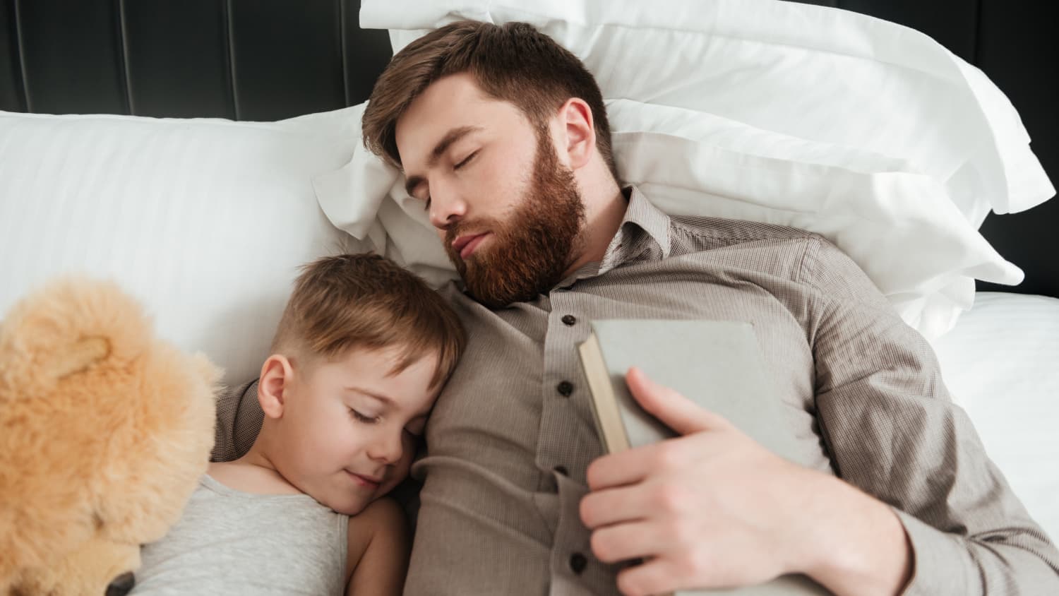
[[[0,109],[280,120],[359,104],[390,59],[359,0],[0,0]]]

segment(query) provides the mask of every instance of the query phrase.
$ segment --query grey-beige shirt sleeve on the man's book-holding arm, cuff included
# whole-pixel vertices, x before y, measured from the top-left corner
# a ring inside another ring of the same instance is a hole
[[[1059,594],[1059,552],[950,399],[930,344],[826,240],[809,247],[802,275],[815,290],[825,445],[841,478],[901,520],[914,550],[904,594]]]

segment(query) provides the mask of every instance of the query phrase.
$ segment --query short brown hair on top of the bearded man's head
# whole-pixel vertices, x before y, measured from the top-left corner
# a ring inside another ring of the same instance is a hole
[[[468,72],[491,97],[517,106],[541,126],[571,97],[592,109],[596,149],[617,179],[603,93],[577,56],[523,22],[456,21],[409,43],[379,76],[361,122],[364,147],[401,167],[396,128],[433,82]]]

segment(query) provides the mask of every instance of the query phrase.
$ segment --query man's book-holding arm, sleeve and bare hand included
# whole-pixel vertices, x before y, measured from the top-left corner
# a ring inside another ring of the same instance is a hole
[[[838,594],[1059,593],[1059,553],[948,398],[936,360],[852,261],[819,240],[807,340],[842,480],[787,463],[665,387],[629,379],[684,436],[600,457],[581,518],[626,594],[805,573]],[[911,580],[909,574],[912,573]],[[902,588],[903,586],[903,588]]]

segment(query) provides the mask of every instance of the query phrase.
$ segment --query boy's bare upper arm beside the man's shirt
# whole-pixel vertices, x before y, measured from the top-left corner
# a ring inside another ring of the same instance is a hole
[[[411,549],[408,520],[389,498],[349,518],[345,593],[400,596]]]

